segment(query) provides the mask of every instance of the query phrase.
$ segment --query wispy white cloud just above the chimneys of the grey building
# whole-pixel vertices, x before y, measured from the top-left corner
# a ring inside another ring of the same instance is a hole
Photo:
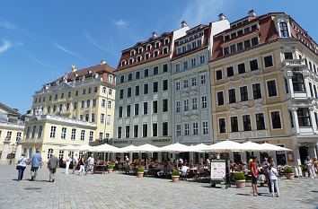
[[[195,27],[199,24],[217,21],[219,13],[225,7],[223,0],[192,0],[186,5],[180,21],[186,21]]]

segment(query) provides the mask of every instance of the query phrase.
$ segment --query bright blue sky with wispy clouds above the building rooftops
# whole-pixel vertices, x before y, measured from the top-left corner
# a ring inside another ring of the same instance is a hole
[[[317,41],[318,1],[3,1],[0,6],[0,102],[25,113],[44,83],[103,59],[117,66],[120,52],[152,31],[175,30],[217,20],[233,22],[254,9],[257,15],[285,12]]]

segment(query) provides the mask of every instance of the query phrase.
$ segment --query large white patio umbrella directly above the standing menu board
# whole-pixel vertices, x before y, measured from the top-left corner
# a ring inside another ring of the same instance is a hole
[[[220,143],[208,145],[207,148],[203,148],[202,151],[206,152],[242,152],[245,151],[243,149],[243,145],[239,143],[235,143],[230,140],[225,140]]]

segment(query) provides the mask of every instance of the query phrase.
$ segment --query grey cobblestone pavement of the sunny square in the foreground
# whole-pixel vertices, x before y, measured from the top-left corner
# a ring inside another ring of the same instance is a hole
[[[56,181],[48,182],[49,170],[41,169],[32,182],[30,167],[16,181],[15,166],[0,166],[0,209],[23,208],[315,208],[318,179],[279,180],[280,197],[260,187],[211,188],[208,183],[143,178],[117,171],[78,176],[57,170]]]

